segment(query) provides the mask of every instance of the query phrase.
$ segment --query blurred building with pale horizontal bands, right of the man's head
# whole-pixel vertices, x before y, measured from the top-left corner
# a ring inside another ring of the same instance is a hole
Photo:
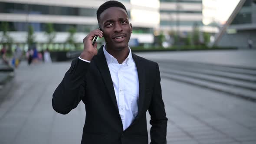
[[[202,18],[202,0],[160,0],[161,30],[191,31]]]

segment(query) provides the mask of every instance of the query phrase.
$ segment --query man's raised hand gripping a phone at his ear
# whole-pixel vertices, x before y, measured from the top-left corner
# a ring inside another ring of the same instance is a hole
[[[91,61],[93,56],[97,55],[97,42],[96,39],[103,37],[103,32],[100,29],[95,29],[91,31],[85,38],[83,39],[84,50],[80,55],[80,58]],[[92,42],[92,40],[94,41]]]

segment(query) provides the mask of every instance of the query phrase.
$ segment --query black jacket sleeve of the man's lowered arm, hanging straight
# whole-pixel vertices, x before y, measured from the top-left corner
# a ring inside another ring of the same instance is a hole
[[[164,101],[162,99],[158,64],[156,66],[156,71],[156,81],[153,88],[151,104],[148,109],[148,112],[151,115],[150,124],[152,125],[150,129],[150,144],[166,144],[167,118],[164,109]]]

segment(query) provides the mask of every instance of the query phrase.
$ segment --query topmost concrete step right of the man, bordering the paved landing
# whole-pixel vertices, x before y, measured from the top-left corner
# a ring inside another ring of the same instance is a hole
[[[224,66],[224,65],[216,65],[216,64],[209,64],[209,63],[199,63],[199,62],[184,62],[184,61],[157,61],[160,64],[164,65],[182,65],[183,67],[189,67],[194,69],[207,69],[207,70],[215,70],[219,72],[229,72],[234,74],[243,74],[243,75],[250,75],[256,76],[256,68],[245,68],[245,67],[231,67],[231,66]]]

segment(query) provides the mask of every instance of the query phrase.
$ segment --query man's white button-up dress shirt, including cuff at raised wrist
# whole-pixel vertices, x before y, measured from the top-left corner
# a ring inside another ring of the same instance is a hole
[[[106,51],[105,45],[103,52],[112,78],[123,130],[125,130],[138,114],[139,80],[137,67],[132,59],[130,48],[129,55],[122,64],[119,64],[117,59]],[[79,59],[81,58],[79,57]]]

